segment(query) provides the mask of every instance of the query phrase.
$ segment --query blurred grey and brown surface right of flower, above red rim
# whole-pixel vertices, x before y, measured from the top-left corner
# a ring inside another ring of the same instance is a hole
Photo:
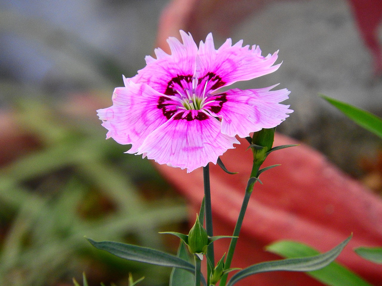
[[[359,174],[360,157],[373,158],[380,139],[355,125],[317,96],[324,93],[382,116],[382,80],[361,42],[346,1],[280,1],[266,5],[233,33],[233,42],[257,44],[263,55],[280,50],[280,69],[239,83],[257,88],[281,83],[291,90],[295,112],[279,131],[323,151],[337,165]]]

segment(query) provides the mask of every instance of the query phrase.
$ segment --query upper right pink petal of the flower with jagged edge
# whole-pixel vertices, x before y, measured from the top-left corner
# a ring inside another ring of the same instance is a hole
[[[276,71],[280,66],[272,66],[277,60],[278,51],[264,57],[259,46],[253,45],[250,50],[249,45],[242,45],[243,40],[232,46],[232,40],[227,39],[215,50],[211,33],[207,35],[205,43],[200,42],[196,55],[196,73],[199,79],[209,78],[209,90],[264,76]]]

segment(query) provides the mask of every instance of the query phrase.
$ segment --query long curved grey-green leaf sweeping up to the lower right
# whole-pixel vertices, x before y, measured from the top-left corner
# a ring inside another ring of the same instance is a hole
[[[241,279],[262,272],[271,271],[313,271],[327,266],[341,253],[342,249],[349,242],[351,236],[345,239],[342,243],[338,244],[332,250],[323,254],[311,256],[311,257],[299,257],[283,260],[275,260],[254,264],[245,268],[232,276],[228,281],[227,286],[232,286]]]

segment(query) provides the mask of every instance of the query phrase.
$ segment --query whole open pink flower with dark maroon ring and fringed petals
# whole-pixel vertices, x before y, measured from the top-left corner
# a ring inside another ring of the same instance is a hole
[[[278,69],[277,52],[261,56],[254,45],[232,45],[227,39],[215,50],[212,34],[197,48],[191,34],[180,31],[183,44],[170,37],[171,55],[155,49],[156,59],[146,56],[146,66],[125,87],[113,93],[113,106],[97,110],[107,138],[131,144],[126,153],[142,154],[159,164],[187,168],[187,172],[216,164],[235,136],[249,136],[280,124],[289,105],[287,89],[267,88],[216,92],[241,80],[254,79]]]

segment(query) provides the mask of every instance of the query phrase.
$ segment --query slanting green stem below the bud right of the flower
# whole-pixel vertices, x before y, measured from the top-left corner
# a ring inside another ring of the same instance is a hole
[[[259,172],[261,164],[262,164],[262,162],[258,162],[256,160],[253,161],[252,172],[251,172],[250,178],[251,177],[257,178],[257,173]],[[244,215],[245,215],[245,212],[247,210],[249,198],[251,197],[251,194],[253,191],[253,186],[254,186],[255,182],[256,181],[249,184],[245,190],[243,204],[241,204],[239,217],[238,217],[238,220],[236,222],[235,230],[233,230],[233,235],[232,235],[232,236],[236,236],[236,237],[233,237],[231,239],[230,247],[228,248],[227,259],[225,260],[225,265],[224,265],[225,270],[227,270],[231,266],[233,253],[235,252],[235,247],[236,247],[236,243],[238,241],[238,236],[239,236],[239,233],[241,230],[241,225],[243,224]],[[227,283],[227,275],[228,274],[225,274],[222,276],[222,279],[220,280],[219,286],[225,286],[225,284]]]

